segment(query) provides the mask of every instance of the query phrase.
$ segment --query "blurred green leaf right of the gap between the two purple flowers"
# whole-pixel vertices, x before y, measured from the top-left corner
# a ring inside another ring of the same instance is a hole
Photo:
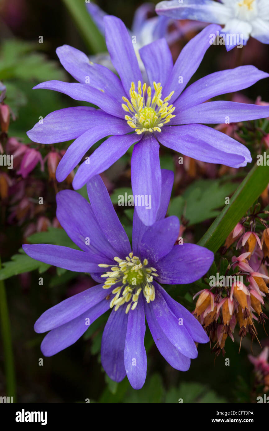
[[[225,197],[229,197],[235,188],[236,184],[221,184],[221,180],[194,181],[182,196],[171,200],[168,214],[179,218],[184,215],[189,225],[212,219],[219,214],[218,208],[225,204]]]

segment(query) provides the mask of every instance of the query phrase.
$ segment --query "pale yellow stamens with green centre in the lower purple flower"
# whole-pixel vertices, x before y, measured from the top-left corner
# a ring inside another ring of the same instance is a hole
[[[117,311],[121,305],[127,304],[125,310],[127,314],[130,309],[136,308],[142,291],[147,303],[154,301],[155,289],[152,281],[153,276],[158,277],[158,274],[156,274],[155,268],[147,268],[148,260],[144,259],[142,263],[139,257],[133,256],[133,252],[126,256],[125,260],[119,257],[114,257],[114,260],[118,263],[117,266],[104,263],[98,265],[101,268],[110,267],[110,271],[101,275],[101,277],[106,278],[103,285],[104,289],[109,289],[114,284],[120,283],[120,286],[112,290],[112,294],[115,296],[111,300],[110,308],[115,307],[114,310]]]

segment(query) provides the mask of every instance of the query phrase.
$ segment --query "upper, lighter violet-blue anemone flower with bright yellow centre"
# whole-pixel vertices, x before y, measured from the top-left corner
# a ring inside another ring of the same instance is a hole
[[[212,24],[193,37],[173,65],[167,41],[158,39],[139,50],[150,86],[142,75],[130,34],[115,16],[105,16],[106,43],[118,78],[89,61],[81,51],[63,45],[57,55],[79,83],[47,81],[34,88],[60,91],[99,107],[76,106],[51,112],[28,137],[42,144],[75,139],[57,166],[63,181],[97,141],[108,137],[79,166],[75,190],[104,172],[133,144],[131,181],[134,195],[151,196],[152,206],[137,206],[145,225],[156,220],[161,198],[159,143],[195,159],[238,168],[251,161],[250,151],[224,133],[203,125],[266,118],[269,106],[229,101],[206,102],[214,96],[247,88],[269,75],[254,66],[212,73],[186,88],[196,72],[210,37],[221,28]]]

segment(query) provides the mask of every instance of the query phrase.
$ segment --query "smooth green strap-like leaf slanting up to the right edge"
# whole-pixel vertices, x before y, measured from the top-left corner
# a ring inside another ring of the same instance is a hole
[[[228,234],[259,198],[268,183],[269,166],[257,166],[255,164],[234,192],[230,199],[230,205],[225,205],[198,244],[212,250],[213,253],[218,251]]]

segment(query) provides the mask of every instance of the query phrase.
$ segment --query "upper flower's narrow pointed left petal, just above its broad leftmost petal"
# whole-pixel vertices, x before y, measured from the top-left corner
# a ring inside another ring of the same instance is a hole
[[[123,111],[119,101],[112,98],[105,91],[100,91],[90,84],[77,84],[63,81],[46,81],[33,87],[33,90],[38,89],[54,90],[60,93],[67,94],[74,100],[84,100],[85,102],[93,103],[104,112],[113,116],[123,118],[125,112]]]

